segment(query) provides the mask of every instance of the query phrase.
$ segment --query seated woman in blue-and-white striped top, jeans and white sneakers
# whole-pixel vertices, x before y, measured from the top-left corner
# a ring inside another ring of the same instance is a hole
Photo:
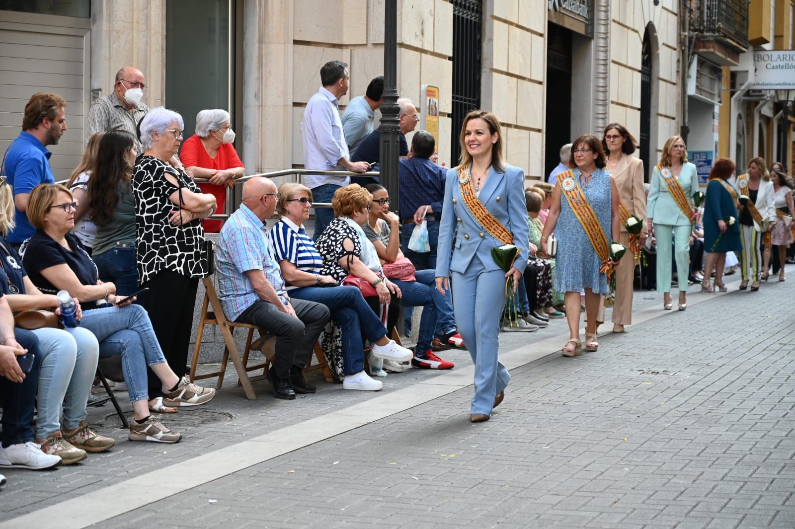
[[[332,331],[323,341],[324,355],[343,389],[378,391],[383,384],[364,370],[363,337],[378,353],[390,347],[386,327],[366,303],[359,288],[320,275],[323,257],[304,230],[312,208],[312,190],[301,183],[282,183],[276,205],[281,218],[268,232],[290,297],[323,303],[332,312]],[[334,339],[337,338],[337,339]],[[393,342],[394,343],[394,342]]]

